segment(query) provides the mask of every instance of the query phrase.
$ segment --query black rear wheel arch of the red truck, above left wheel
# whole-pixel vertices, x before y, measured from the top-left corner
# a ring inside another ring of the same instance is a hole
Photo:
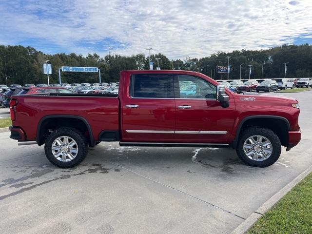
[[[95,141],[92,133],[91,126],[89,122],[84,118],[80,116],[75,116],[75,115],[48,115],[44,116],[39,120],[38,126],[37,126],[37,137],[36,141],[38,145],[43,145],[45,143],[45,133],[48,130],[49,124],[51,124],[52,120],[66,120],[65,122],[68,123],[68,125],[63,125],[59,123],[53,124],[53,126],[58,126],[58,127],[72,127],[75,126],[79,130],[87,130],[88,131],[88,136],[87,139],[89,141],[90,146],[94,146]],[[72,120],[72,121],[71,121]],[[71,123],[69,123],[71,121]],[[80,124],[80,125],[79,125]],[[79,127],[77,127],[79,126]]]

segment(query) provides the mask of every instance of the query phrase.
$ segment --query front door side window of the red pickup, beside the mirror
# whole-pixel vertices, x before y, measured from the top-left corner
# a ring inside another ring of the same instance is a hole
[[[216,87],[208,81],[189,75],[179,75],[179,98],[215,99]],[[176,97],[178,98],[178,97]]]

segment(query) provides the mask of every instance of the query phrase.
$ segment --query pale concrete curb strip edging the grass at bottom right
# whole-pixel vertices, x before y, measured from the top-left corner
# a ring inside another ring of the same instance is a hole
[[[262,217],[273,205],[278,202],[284,195],[286,195],[296,184],[298,184],[304,177],[312,172],[312,165],[303,171],[299,176],[295,177],[284,188],[274,194],[269,200],[263,203],[256,211],[253,212],[248,218],[246,218],[240,225],[238,225],[231,234],[244,234],[246,233],[254,223]]]

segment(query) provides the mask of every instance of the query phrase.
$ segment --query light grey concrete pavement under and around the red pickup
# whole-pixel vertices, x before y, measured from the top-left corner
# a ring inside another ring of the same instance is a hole
[[[300,102],[302,140],[268,168],[232,149],[100,143],[82,165],[59,169],[43,146],[1,133],[1,233],[230,233],[312,165],[312,92],[283,95]]]

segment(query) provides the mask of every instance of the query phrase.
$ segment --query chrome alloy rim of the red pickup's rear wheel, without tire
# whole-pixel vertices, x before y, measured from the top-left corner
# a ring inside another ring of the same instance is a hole
[[[58,137],[53,141],[52,154],[59,161],[72,161],[78,154],[78,144],[71,137]]]

